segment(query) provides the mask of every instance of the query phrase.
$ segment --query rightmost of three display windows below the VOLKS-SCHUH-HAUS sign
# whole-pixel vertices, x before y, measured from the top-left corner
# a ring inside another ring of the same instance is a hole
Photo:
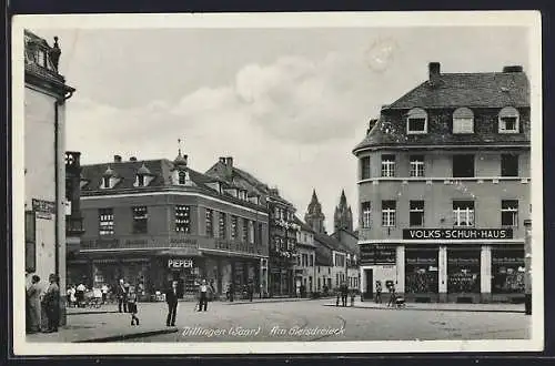
[[[492,251],[492,293],[524,293],[524,250]]]

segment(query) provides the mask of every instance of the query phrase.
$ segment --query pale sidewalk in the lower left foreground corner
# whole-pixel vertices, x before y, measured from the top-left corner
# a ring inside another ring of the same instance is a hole
[[[102,308],[90,309],[91,312],[87,314],[77,313],[77,311],[82,311],[82,308],[69,308],[68,311],[67,325],[60,327],[58,333],[28,334],[27,342],[117,342],[178,332],[176,327],[165,326],[163,319],[165,308],[161,308],[160,317],[141,317],[141,313],[139,313],[140,325],[135,326],[131,326],[130,314],[113,313],[113,311],[108,313],[105,308],[103,312]]]

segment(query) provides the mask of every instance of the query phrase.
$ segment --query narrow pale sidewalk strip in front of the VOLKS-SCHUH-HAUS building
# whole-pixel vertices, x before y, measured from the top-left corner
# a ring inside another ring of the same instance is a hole
[[[324,306],[335,306],[335,301],[333,303],[324,304]],[[387,307],[386,303],[376,304],[374,302],[361,302],[361,301],[355,301],[354,306],[351,306],[351,301],[349,301],[347,307],[371,308],[371,309],[382,309],[382,311],[403,309],[396,307]],[[524,305],[522,304],[407,303],[404,308],[412,311],[430,311],[430,312],[524,313]]]

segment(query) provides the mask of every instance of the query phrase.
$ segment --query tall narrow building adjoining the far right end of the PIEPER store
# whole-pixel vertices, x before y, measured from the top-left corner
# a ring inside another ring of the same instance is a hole
[[[278,189],[266,184],[244,170],[233,165],[233,157],[220,160],[206,171],[206,175],[218,177],[228,184],[241,186],[260,195],[261,204],[269,213],[269,284],[270,296],[294,296],[296,263],[296,240],[300,226],[295,223],[295,207],[280,196]]]

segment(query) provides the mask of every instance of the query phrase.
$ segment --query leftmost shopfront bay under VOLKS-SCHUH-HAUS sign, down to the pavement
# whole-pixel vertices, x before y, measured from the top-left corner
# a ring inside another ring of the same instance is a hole
[[[407,301],[435,302],[438,294],[437,245],[414,245],[405,248],[405,295]]]

